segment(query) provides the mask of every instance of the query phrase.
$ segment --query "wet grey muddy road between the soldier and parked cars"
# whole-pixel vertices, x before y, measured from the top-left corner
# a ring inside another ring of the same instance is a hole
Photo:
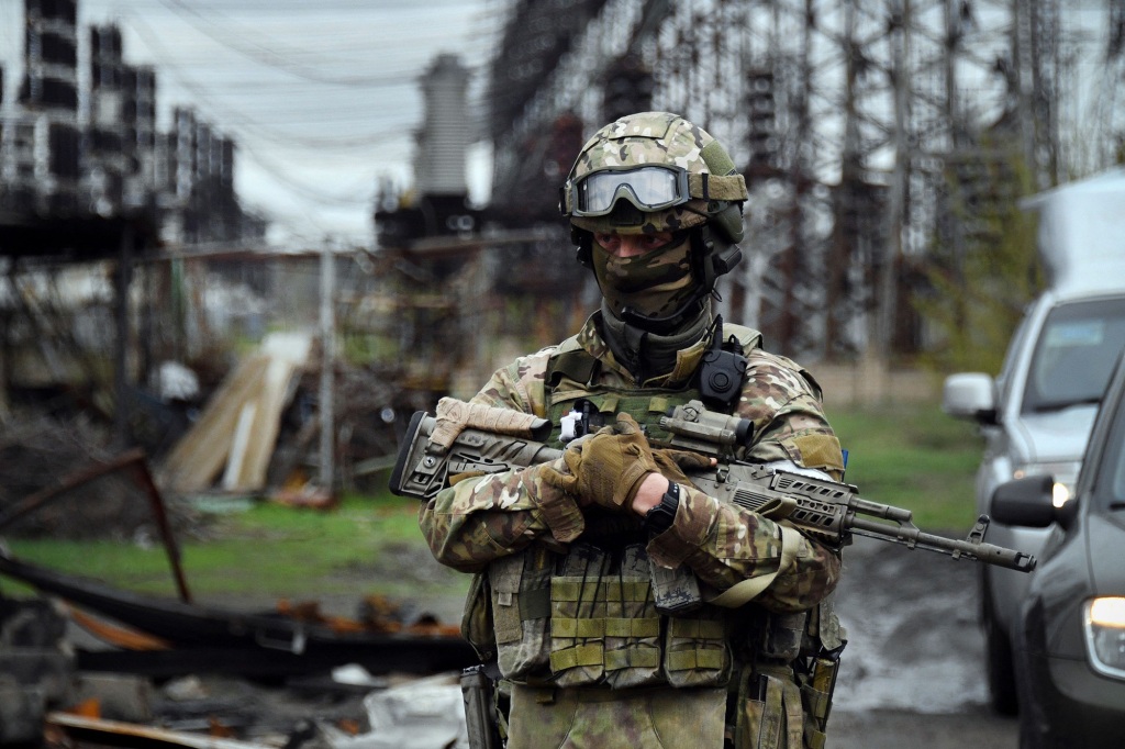
[[[988,706],[976,563],[871,539],[844,559],[848,644],[828,746],[1015,749],[1017,721]]]

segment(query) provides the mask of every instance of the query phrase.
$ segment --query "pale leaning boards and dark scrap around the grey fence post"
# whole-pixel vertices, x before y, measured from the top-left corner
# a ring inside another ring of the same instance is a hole
[[[164,490],[256,493],[290,504],[327,500],[308,491],[322,460],[317,354],[306,334],[267,336],[219,382],[161,461]],[[370,488],[371,477],[393,464],[410,415],[435,403],[436,395],[394,385],[399,381],[395,372],[334,363],[331,459],[339,488]]]

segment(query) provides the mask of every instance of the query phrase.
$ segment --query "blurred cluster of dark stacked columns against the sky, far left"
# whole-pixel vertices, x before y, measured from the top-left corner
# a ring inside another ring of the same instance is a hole
[[[234,143],[187,108],[177,109],[170,132],[158,132],[156,74],[125,62],[116,26],[86,29],[80,58],[78,0],[24,6],[19,90],[7,103],[0,90],[0,253],[58,254],[73,236],[21,237],[48,226],[62,232],[66,222],[110,233],[130,223],[153,243],[261,234],[234,193]],[[88,91],[79,90],[80,65]],[[118,250],[102,238],[88,244],[79,254]]]

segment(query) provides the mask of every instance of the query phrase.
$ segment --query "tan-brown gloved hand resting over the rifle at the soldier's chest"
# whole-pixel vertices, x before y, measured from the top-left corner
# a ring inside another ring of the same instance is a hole
[[[629,414],[618,414],[615,424],[568,448],[562,459],[570,476],[544,468],[540,472],[543,481],[575,495],[579,505],[596,504],[620,512],[629,512],[645,477],[660,471],[640,425]]]

